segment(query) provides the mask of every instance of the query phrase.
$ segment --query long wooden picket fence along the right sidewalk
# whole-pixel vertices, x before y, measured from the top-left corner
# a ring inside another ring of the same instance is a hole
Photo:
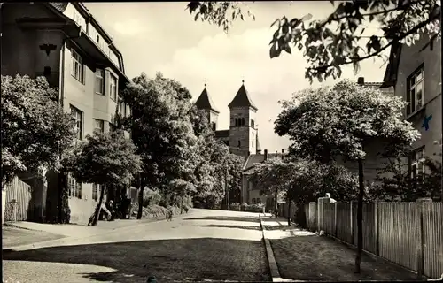
[[[355,202],[309,203],[305,212],[311,230],[357,244]],[[362,226],[366,251],[429,278],[443,273],[443,203],[364,203]]]

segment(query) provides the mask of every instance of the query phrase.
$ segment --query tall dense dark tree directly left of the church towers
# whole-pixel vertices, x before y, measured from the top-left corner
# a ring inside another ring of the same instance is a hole
[[[191,96],[179,82],[161,73],[155,79],[142,73],[121,95],[131,107],[131,115],[122,125],[131,132],[142,158],[137,214],[141,218],[144,187],[167,194],[171,180],[189,181],[193,177],[198,140],[190,122]]]

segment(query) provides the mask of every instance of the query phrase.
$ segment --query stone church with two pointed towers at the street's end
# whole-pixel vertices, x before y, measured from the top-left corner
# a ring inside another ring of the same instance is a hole
[[[220,111],[215,108],[206,89],[206,84],[195,105],[199,110],[206,112],[207,119],[215,131],[215,138],[228,145],[231,153],[245,158],[242,172],[241,203],[266,203],[267,209],[271,208],[274,203],[272,196],[260,195],[260,189],[253,186],[249,176],[253,173],[255,164],[262,163],[268,158],[283,157],[283,150],[281,154],[268,154],[268,150],[265,149],[264,154],[261,154],[259,129],[255,123],[259,109],[249,96],[245,88],[245,81],[242,81],[236,96],[228,105],[230,112],[228,130],[217,130]]]

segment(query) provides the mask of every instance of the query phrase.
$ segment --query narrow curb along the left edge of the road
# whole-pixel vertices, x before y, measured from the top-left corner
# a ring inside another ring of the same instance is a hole
[[[188,215],[190,215],[190,213],[185,213],[185,215],[179,215],[179,216],[177,216],[175,218],[183,218],[183,217],[188,216]],[[157,223],[157,222],[161,222],[161,221],[166,221],[166,219],[156,219],[156,220],[149,221],[149,222],[147,221],[145,223],[146,224],[148,224],[148,223],[151,224],[151,223]],[[98,235],[101,235],[101,234],[109,233],[110,231],[113,231],[113,232],[115,232],[115,231],[124,231],[125,229],[130,229],[130,228],[134,228],[135,226],[139,226],[140,224],[143,224],[143,223],[137,223],[137,224],[130,225],[130,226],[124,226],[124,227],[120,227],[120,228],[113,228],[113,229],[106,230],[106,231],[100,231],[99,233],[89,234],[86,237],[69,237],[69,236],[66,236],[66,237],[62,237],[62,238],[59,238],[59,239],[55,239],[55,240],[38,241],[38,242],[35,242],[35,243],[32,243],[32,244],[26,244],[26,245],[19,245],[19,246],[12,246],[12,247],[5,247],[5,246],[3,246],[2,247],[2,252],[12,252],[12,251],[19,251],[19,250],[27,250],[27,249],[47,248],[45,245],[48,245],[48,244],[50,245],[49,247],[51,247],[51,244],[60,244],[60,243],[63,244],[66,241],[69,242],[69,241],[89,239],[91,237],[95,237],[95,236],[98,236]],[[27,229],[27,230],[42,231],[42,230],[34,230],[34,229]],[[46,231],[43,231],[43,232],[46,232]]]

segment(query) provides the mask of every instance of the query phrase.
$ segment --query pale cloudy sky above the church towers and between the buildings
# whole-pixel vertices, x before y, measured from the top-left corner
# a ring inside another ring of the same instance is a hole
[[[253,103],[258,107],[256,124],[259,127],[261,149],[269,152],[286,149],[288,137],[274,133],[274,121],[281,111],[278,101],[309,88],[305,79],[307,63],[302,54],[293,49],[292,55],[282,53],[269,58],[269,41],[274,29],[272,22],[283,16],[324,19],[333,11],[329,1],[248,2],[255,20],[238,19],[228,34],[221,27],[212,26],[194,17],[186,9],[186,2],[120,2],[86,3],[102,27],[111,34],[123,55],[129,78],[144,72],[149,77],[161,72],[178,80],[190,90],[196,100],[207,83],[207,91],[215,107],[221,112],[217,130],[229,129],[228,104],[237,94],[242,80]],[[365,34],[377,33],[369,26]],[[382,81],[385,63],[369,59],[361,63],[361,71],[354,75],[353,67],[345,67],[341,79]],[[332,78],[323,82],[332,85]],[[317,82],[312,87],[319,87]]]

